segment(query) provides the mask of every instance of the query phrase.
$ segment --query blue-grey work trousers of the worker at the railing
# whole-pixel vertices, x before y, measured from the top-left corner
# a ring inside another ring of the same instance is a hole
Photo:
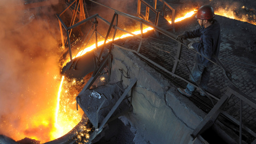
[[[196,62],[193,69],[191,70],[191,74],[195,79],[191,75],[189,75],[189,80],[191,82],[200,82],[202,88],[206,90],[207,84],[209,83],[210,80],[211,69],[212,66],[204,67],[202,65],[198,65],[198,63]],[[195,86],[188,84],[185,91],[189,94],[192,94],[194,90]]]

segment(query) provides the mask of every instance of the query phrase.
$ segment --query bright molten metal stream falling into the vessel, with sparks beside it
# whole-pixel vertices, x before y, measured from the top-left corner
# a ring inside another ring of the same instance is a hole
[[[70,82],[69,79],[65,81],[64,79],[65,76],[62,76],[55,110],[55,123],[50,133],[51,140],[60,138],[72,130],[81,121],[83,115],[83,110],[76,110],[75,97],[79,92],[74,88],[77,83],[82,82],[76,82],[75,79]]]

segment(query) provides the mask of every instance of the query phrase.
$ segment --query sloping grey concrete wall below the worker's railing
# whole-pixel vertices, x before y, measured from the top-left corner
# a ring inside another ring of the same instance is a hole
[[[133,113],[127,114],[130,124],[137,130],[135,143],[202,143],[202,139],[190,136],[195,127],[205,116],[185,97],[179,97],[175,86],[158,74],[153,68],[141,61],[132,52],[115,47],[111,81],[122,81],[123,87],[130,79],[122,78],[118,69],[125,76],[138,78],[132,92]],[[170,87],[170,89],[169,89]]]

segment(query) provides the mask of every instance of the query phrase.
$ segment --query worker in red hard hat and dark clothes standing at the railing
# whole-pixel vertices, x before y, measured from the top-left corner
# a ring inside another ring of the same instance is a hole
[[[207,90],[207,84],[213,66],[213,63],[207,59],[215,61],[213,57],[218,57],[220,50],[220,24],[217,20],[213,19],[214,16],[212,6],[204,5],[200,7],[197,11],[196,18],[201,27],[193,31],[185,31],[176,38],[178,41],[183,42],[183,39],[200,37],[199,42],[188,44],[188,49],[195,50],[201,54],[196,54],[195,65],[191,70],[189,80],[191,82],[200,82],[204,90]],[[187,97],[191,97],[194,90],[195,86],[191,84],[187,84],[186,89],[178,88],[178,91]],[[202,90],[197,88],[196,91],[200,95],[205,96]]]

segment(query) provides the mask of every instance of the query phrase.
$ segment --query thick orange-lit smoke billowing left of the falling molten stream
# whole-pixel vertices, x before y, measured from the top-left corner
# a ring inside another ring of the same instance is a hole
[[[5,9],[15,4],[0,3],[0,134],[47,140],[60,77],[57,12]]]

